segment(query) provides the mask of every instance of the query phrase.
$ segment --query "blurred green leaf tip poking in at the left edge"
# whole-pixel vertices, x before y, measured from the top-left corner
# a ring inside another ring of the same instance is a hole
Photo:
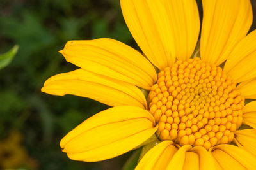
[[[18,52],[18,49],[19,45],[15,45],[11,50],[0,55],[0,69],[3,69],[4,67],[8,66],[10,62],[12,62],[13,57]]]

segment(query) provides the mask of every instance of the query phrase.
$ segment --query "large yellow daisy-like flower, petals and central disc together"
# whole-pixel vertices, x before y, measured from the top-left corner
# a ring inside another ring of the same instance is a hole
[[[120,3],[147,58],[113,39],[68,41],[61,53],[81,69],[52,76],[42,91],[113,108],[69,132],[63,152],[72,160],[106,160],[155,135],[157,145],[136,169],[255,169],[256,101],[245,105],[256,99],[250,0],[202,0],[200,53],[195,0]],[[250,128],[239,130],[241,124]]]

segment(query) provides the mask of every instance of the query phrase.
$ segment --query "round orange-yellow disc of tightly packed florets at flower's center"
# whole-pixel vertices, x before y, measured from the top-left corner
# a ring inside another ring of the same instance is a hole
[[[243,122],[244,97],[221,67],[198,57],[178,60],[157,76],[148,94],[161,140],[204,146],[230,143]]]

